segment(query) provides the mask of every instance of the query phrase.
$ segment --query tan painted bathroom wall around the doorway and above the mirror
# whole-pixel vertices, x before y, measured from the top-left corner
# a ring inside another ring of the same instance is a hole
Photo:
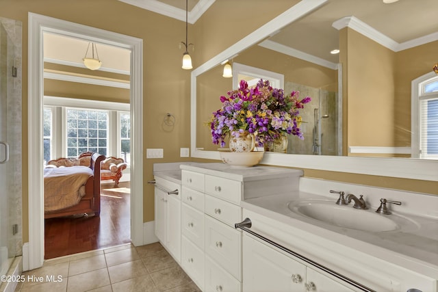
[[[266,5],[263,0],[250,1],[262,7],[263,13],[242,14],[248,10],[246,0],[216,1],[196,25],[189,25],[189,42],[196,44],[191,53],[194,67],[199,66],[255,28],[270,21],[298,0],[278,0]],[[28,238],[28,140],[27,140],[27,38],[28,12],[64,21],[114,31],[141,38],[144,46],[144,149],[164,148],[164,159],[144,160],[144,222],[154,220],[153,187],[146,181],[153,178],[153,163],[188,161],[179,157],[180,147],[190,146],[190,71],[181,69],[183,51],[179,43],[185,39],[185,24],[173,18],[117,0],[0,0],[0,16],[23,23],[23,242]],[[95,12],[99,12],[96,16]],[[238,29],[236,29],[238,27]],[[47,85],[49,85],[47,81]],[[51,85],[53,94],[58,85]],[[49,92],[47,92],[49,93]],[[86,97],[86,94],[78,96]],[[118,99],[120,96],[114,96]],[[166,113],[175,116],[172,131],[162,129]]]

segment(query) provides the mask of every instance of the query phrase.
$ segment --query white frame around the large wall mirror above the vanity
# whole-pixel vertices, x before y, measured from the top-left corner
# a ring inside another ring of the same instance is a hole
[[[261,40],[275,34],[289,23],[305,16],[326,3],[328,0],[302,0],[289,10],[286,10],[265,25],[248,34],[215,57],[209,59],[191,73],[190,84],[190,148],[192,157],[200,159],[220,160],[218,151],[206,151],[196,148],[196,77],[211,68],[220,65],[224,60],[236,55],[246,48],[257,44]],[[339,70],[339,74],[342,74]],[[342,78],[339,78],[341,81]],[[342,85],[339,85],[342,86]],[[422,181],[438,181],[438,161],[413,158],[382,158],[382,157],[348,157],[324,155],[292,155],[274,152],[265,152],[261,164],[326,170],[333,172],[350,172],[354,174],[368,174],[374,176],[390,176],[396,178],[410,178]]]

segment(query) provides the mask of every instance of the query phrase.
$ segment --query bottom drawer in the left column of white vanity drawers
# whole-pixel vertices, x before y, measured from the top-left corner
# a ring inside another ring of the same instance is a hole
[[[181,265],[201,290],[204,290],[204,253],[183,236]]]

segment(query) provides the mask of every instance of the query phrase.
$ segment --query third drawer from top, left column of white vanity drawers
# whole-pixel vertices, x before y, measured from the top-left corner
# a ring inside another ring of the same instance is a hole
[[[204,213],[183,204],[183,235],[204,249]]]

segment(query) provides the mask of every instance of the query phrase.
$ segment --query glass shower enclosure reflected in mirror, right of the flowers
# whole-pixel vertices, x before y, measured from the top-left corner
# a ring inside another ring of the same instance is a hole
[[[311,88],[292,82],[285,83],[285,92],[299,91],[300,98],[311,97],[311,102],[300,109],[300,129],[304,140],[290,136],[287,145],[289,154],[340,155],[339,100],[336,92]]]

